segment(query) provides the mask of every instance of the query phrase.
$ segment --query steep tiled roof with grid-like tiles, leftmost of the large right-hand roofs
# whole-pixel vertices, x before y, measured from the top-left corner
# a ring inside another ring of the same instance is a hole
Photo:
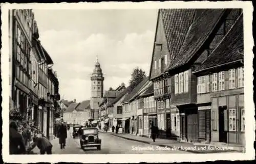
[[[192,23],[196,9],[160,9],[171,57],[175,57]]]

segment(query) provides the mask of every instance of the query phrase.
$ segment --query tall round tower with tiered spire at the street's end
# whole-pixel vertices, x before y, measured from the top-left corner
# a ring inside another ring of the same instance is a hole
[[[98,118],[99,103],[103,99],[103,81],[104,77],[97,58],[95,67],[91,76],[91,109],[94,111],[94,118]]]

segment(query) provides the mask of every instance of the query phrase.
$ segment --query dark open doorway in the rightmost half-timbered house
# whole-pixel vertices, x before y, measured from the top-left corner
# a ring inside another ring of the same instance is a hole
[[[227,132],[225,131],[225,116],[224,111],[227,106],[219,106],[219,141],[227,143]]]

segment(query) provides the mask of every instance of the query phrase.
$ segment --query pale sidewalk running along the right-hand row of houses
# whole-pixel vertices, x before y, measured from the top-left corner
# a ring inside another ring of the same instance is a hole
[[[202,144],[202,143],[186,143],[186,142],[180,142],[180,141],[168,140],[168,139],[156,139],[156,142],[153,142],[151,138],[146,138],[143,136],[131,135],[131,134],[115,134],[112,132],[108,132],[108,133],[126,140],[132,140],[132,141],[142,142],[146,144],[161,146],[161,147],[168,147],[174,150],[187,151],[191,153],[221,153],[221,152],[242,153],[243,151],[243,147],[239,147],[239,146],[236,147],[233,145],[232,146],[230,145],[215,146],[215,145]]]

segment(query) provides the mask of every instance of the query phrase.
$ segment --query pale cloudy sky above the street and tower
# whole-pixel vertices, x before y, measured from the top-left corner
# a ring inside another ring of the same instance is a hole
[[[39,40],[57,71],[61,98],[90,99],[98,55],[104,90],[129,84],[137,66],[149,73],[157,10],[33,10]]]

